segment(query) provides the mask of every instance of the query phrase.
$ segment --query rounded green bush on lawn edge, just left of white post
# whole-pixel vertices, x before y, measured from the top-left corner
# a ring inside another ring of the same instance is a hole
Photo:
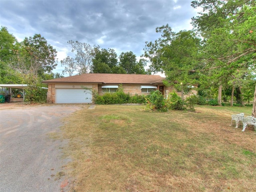
[[[163,94],[156,90],[151,92],[147,100],[147,107],[149,110],[166,112],[168,110],[167,105],[164,100]]]

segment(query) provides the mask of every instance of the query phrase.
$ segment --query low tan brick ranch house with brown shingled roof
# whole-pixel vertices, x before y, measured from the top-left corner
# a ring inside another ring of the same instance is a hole
[[[116,92],[121,86],[131,96],[159,90],[166,97],[166,90],[171,92],[174,88],[164,86],[164,79],[159,75],[87,73],[43,83],[48,84],[48,103],[92,103],[92,90],[103,95]]]

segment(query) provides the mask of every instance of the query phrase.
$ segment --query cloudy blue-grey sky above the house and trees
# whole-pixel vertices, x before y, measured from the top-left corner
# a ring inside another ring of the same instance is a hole
[[[0,0],[0,26],[8,28],[19,42],[41,34],[58,52],[60,60],[70,55],[68,40],[100,48],[143,54],[146,41],[159,37],[155,29],[169,24],[175,32],[190,30],[197,10],[191,0]],[[68,74],[65,74],[68,76]]]

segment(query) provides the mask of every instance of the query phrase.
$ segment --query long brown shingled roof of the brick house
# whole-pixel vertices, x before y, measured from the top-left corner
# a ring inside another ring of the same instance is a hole
[[[102,83],[102,84],[154,84],[162,83],[164,77],[141,74],[86,73],[43,81],[43,83]]]

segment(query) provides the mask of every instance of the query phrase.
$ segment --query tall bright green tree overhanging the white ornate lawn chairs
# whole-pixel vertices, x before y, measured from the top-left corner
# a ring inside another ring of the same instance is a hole
[[[256,2],[198,0],[192,6],[203,8],[193,24],[205,40],[204,69],[229,78],[230,84],[237,85],[237,100],[242,102],[241,85],[247,74],[255,74]]]

